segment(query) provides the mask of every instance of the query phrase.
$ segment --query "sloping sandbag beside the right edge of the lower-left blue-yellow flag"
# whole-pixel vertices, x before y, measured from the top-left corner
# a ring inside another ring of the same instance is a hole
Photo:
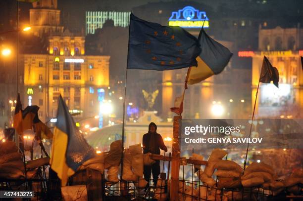
[[[101,154],[98,154],[96,157],[89,159],[79,167],[79,170],[82,169],[94,169],[99,171],[101,174],[104,174],[104,161],[107,153],[102,152]]]

